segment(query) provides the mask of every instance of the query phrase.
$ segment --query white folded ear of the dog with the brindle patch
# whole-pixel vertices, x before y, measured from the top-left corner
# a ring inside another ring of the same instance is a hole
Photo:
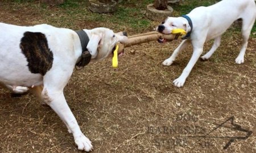
[[[97,55],[97,49],[98,46],[103,44],[103,40],[102,40],[102,35],[92,35],[90,37],[90,40],[88,42],[87,45],[87,49],[90,52],[90,54],[92,55],[92,57],[95,57]]]

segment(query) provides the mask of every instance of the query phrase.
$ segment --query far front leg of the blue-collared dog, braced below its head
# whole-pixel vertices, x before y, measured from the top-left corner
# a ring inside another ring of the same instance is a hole
[[[191,42],[190,40],[183,40],[180,45],[174,50],[174,53],[172,53],[172,56],[167,58],[166,60],[163,61],[163,65],[164,66],[170,66],[172,65],[172,63],[175,61],[176,57],[178,56],[178,54],[184,50],[185,48],[187,48],[189,42]]]

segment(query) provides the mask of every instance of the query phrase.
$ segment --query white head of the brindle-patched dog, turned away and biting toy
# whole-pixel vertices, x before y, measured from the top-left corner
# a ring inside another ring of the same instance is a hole
[[[114,33],[108,28],[94,28],[87,33],[89,43],[87,49],[92,55],[92,61],[100,61],[109,56],[113,56],[117,42],[125,43],[127,38],[126,32]],[[123,50],[118,53],[122,55]]]

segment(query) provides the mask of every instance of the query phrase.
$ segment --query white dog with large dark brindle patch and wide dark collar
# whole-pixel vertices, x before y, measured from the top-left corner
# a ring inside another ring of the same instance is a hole
[[[83,67],[90,59],[113,56],[115,44],[125,42],[125,35],[108,28],[75,32],[47,24],[21,27],[0,23],[0,85],[19,94],[29,88],[59,115],[79,150],[90,151],[93,146],[82,134],[63,89],[75,65]]]

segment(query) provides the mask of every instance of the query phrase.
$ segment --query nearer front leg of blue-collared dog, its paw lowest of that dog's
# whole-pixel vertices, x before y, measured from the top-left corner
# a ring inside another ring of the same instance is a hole
[[[196,43],[198,43],[198,42],[196,42]],[[192,45],[193,45],[193,54],[192,54],[191,59],[188,62],[188,65],[185,67],[185,69],[183,70],[183,72],[179,76],[179,78],[175,79],[174,82],[173,82],[176,87],[182,87],[184,85],[185,80],[187,79],[187,77],[188,77],[189,73],[191,72],[193,66],[196,64],[196,61],[199,59],[199,57],[203,53],[204,43],[201,44],[201,45],[199,45],[199,44],[194,45],[193,41],[192,41]]]

